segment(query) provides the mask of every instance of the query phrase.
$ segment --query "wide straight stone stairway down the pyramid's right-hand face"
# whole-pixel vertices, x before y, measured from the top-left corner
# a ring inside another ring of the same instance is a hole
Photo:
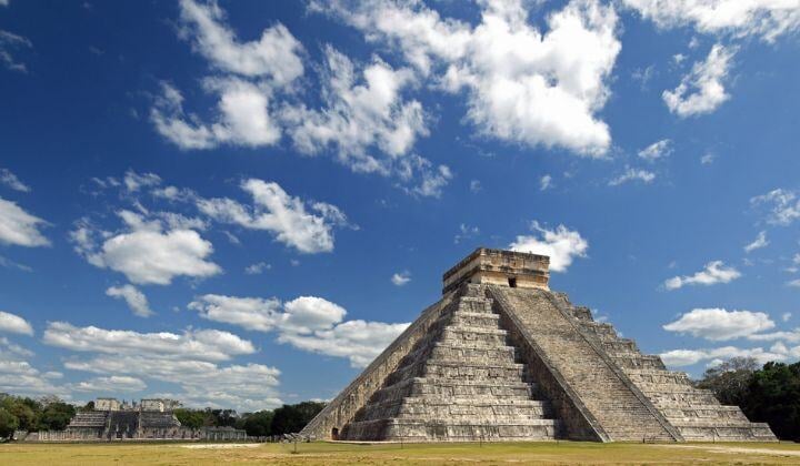
[[[487,286],[502,313],[526,327],[549,362],[549,369],[572,389],[610,440],[681,440],[663,415],[609,358],[597,341],[578,331],[578,323],[547,290]],[[630,351],[632,342],[611,345]],[[600,434],[602,438],[602,433]]]

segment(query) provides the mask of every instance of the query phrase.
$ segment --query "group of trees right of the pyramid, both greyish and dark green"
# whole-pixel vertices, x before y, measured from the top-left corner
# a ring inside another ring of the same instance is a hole
[[[733,357],[707,369],[696,385],[741,407],[748,419],[768,423],[778,438],[800,442],[800,362],[759,368],[752,357]]]

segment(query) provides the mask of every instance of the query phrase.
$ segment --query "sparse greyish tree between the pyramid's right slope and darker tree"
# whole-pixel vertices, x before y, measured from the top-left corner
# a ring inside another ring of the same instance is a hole
[[[706,369],[698,388],[713,392],[723,405],[741,405],[748,397],[750,379],[758,369],[752,357],[731,357],[714,367]]]

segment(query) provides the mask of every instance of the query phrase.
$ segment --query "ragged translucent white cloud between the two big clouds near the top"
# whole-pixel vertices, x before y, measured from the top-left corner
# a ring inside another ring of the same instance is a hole
[[[284,105],[281,119],[294,146],[302,153],[336,150],[338,160],[357,172],[394,174],[403,182],[421,179],[410,191],[438,196],[451,178],[444,165],[411,153],[416,141],[428,135],[422,105],[404,100],[416,83],[409,69],[393,69],[374,58],[357,72],[356,65],[332,47],[326,48],[320,110]],[[383,156],[376,156],[378,149]]]

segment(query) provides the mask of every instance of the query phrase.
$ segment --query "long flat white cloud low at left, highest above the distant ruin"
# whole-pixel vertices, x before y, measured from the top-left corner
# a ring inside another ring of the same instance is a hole
[[[161,359],[218,362],[256,352],[251,342],[232,333],[217,330],[189,330],[182,334],[139,333],[96,326],[77,327],[67,322],[50,322],[42,341],[50,346],[77,352],[147,356]]]

